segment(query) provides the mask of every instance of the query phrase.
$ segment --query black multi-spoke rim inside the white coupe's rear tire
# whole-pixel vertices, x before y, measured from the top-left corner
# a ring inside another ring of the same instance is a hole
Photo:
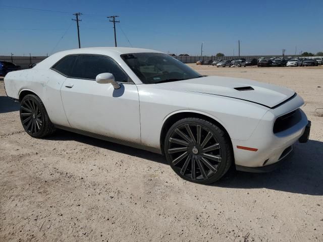
[[[26,98],[21,103],[20,117],[22,125],[29,134],[35,135],[40,131],[43,115],[33,99]]]

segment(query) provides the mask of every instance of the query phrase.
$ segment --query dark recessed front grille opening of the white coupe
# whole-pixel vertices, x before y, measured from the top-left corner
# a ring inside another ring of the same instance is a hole
[[[274,124],[274,134],[287,130],[297,124],[301,120],[299,109],[286,113],[276,119]]]

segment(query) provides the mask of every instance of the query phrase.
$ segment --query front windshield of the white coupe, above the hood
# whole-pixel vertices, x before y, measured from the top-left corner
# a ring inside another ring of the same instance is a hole
[[[163,53],[122,54],[122,59],[144,84],[202,77],[184,63]]]

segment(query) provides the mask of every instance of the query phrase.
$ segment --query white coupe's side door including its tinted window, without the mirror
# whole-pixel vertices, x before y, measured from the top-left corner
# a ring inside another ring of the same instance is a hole
[[[112,73],[121,88],[97,83],[100,73]],[[112,58],[78,55],[61,96],[72,128],[140,143],[138,89]]]

